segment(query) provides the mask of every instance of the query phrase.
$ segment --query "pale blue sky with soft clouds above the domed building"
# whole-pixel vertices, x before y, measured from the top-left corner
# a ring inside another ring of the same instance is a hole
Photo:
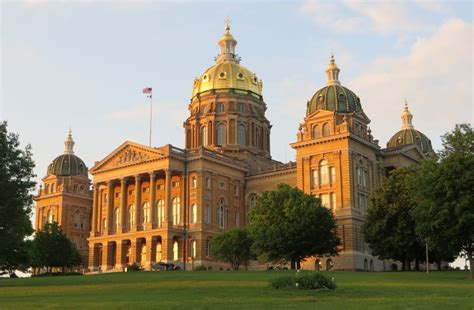
[[[193,79],[214,62],[230,16],[241,64],[263,80],[272,155],[293,160],[306,101],[334,49],[385,146],[406,97],[415,128],[440,135],[473,114],[470,2],[2,1],[0,118],[31,143],[38,178],[69,126],[91,167],[124,140],[184,144]]]

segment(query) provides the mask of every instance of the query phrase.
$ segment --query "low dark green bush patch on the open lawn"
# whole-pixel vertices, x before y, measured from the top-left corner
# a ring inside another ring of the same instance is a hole
[[[333,290],[336,288],[336,283],[332,279],[330,279],[327,275],[315,271],[297,273],[296,275],[281,276],[272,279],[270,284],[276,289],[298,288],[317,290],[327,288]]]

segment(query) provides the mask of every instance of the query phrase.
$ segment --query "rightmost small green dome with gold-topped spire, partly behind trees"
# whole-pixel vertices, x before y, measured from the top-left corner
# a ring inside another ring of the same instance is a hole
[[[405,108],[402,113],[402,130],[394,134],[387,143],[387,147],[397,147],[401,145],[416,144],[423,153],[433,153],[431,141],[422,132],[413,128],[413,115],[408,110],[405,102]]]

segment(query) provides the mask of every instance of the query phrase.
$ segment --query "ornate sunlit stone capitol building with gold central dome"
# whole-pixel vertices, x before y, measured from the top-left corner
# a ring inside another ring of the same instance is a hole
[[[248,225],[257,198],[286,183],[320,197],[337,221],[339,255],[309,258],[304,269],[393,268],[371,254],[362,225],[382,177],[433,152],[406,103],[401,130],[381,147],[369,111],[341,84],[331,55],[326,85],[308,94],[306,114],[294,124],[296,158],[281,163],[271,157],[262,80],[241,65],[229,23],[218,44],[215,64],[194,80],[185,148],[125,141],[87,168],[69,132],[64,154],[48,166],[35,197],[36,229],[58,222],[91,272],[132,263],[150,270],[159,262],[227,268],[213,259],[212,238]]]

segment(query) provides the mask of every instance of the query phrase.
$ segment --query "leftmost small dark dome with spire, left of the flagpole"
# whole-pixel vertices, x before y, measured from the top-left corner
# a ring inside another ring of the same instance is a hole
[[[57,176],[83,175],[88,177],[88,170],[82,159],[74,155],[74,140],[71,130],[64,141],[64,154],[56,157],[48,166],[48,174]]]

